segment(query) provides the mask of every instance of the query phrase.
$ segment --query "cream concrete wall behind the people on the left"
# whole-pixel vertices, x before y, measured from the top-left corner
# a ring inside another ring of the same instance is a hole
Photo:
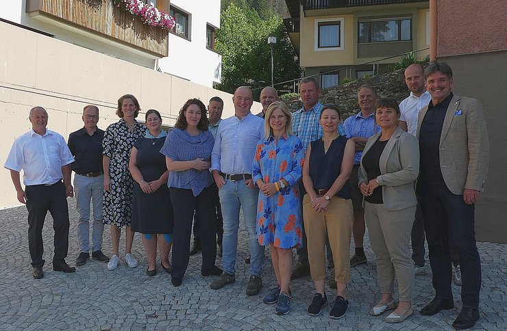
[[[120,59],[90,51],[62,40],[0,22],[0,163],[12,142],[31,127],[28,111],[34,105],[49,113],[48,128],[69,137],[82,127],[82,108],[99,106],[99,127],[118,120],[114,111],[123,94],[134,94],[144,111],[160,111],[164,124],[174,124],[188,98],[204,103],[212,96],[225,101],[223,118],[234,114],[232,95]],[[256,103],[252,109],[260,109]],[[9,172],[0,171],[0,207],[18,204]]]

